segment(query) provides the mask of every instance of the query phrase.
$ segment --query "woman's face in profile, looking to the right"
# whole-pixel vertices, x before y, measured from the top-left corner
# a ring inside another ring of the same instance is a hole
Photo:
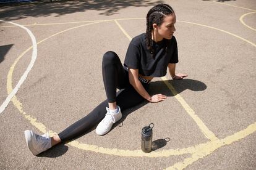
[[[154,31],[158,36],[158,39],[171,39],[173,37],[174,31],[176,31],[174,24],[176,23],[175,14],[166,15],[163,19],[163,23],[158,26],[153,24]]]

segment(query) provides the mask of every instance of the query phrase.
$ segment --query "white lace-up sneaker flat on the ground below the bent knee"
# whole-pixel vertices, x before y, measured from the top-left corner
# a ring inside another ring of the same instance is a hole
[[[122,118],[121,109],[119,106],[117,106],[117,108],[118,108],[118,113],[111,113],[109,111],[109,108],[106,107],[106,110],[108,112],[106,113],[105,118],[96,127],[96,134],[105,135],[110,131],[113,124]]]

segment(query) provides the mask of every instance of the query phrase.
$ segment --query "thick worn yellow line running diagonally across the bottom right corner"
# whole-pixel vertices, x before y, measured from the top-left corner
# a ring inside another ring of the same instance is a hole
[[[250,134],[256,131],[256,122],[250,124],[247,128],[242,131],[236,132],[235,134],[225,137],[224,139],[215,140],[207,142],[206,144],[200,144],[195,147],[196,152],[192,154],[190,158],[186,158],[184,161],[174,164],[173,166],[167,169],[184,169],[195,161],[204,158],[207,155],[210,155],[216,149],[223,147],[225,145],[230,145],[233,142],[244,139]]]

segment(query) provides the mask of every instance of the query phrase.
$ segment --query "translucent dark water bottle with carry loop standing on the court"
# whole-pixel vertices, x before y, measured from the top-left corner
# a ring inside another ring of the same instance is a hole
[[[152,128],[154,127],[153,123],[142,128],[142,151],[143,152],[151,152],[152,145]]]

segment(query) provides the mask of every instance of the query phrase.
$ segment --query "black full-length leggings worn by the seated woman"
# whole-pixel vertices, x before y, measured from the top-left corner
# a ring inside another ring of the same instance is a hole
[[[102,74],[108,100],[100,103],[87,116],[60,132],[58,135],[62,142],[74,139],[100,123],[105,117],[108,102],[116,102],[121,110],[125,110],[145,101],[129,83],[128,70],[122,66],[116,53],[110,51],[103,55]],[[147,91],[148,84],[142,83],[142,85]],[[116,88],[120,89],[117,93]]]

